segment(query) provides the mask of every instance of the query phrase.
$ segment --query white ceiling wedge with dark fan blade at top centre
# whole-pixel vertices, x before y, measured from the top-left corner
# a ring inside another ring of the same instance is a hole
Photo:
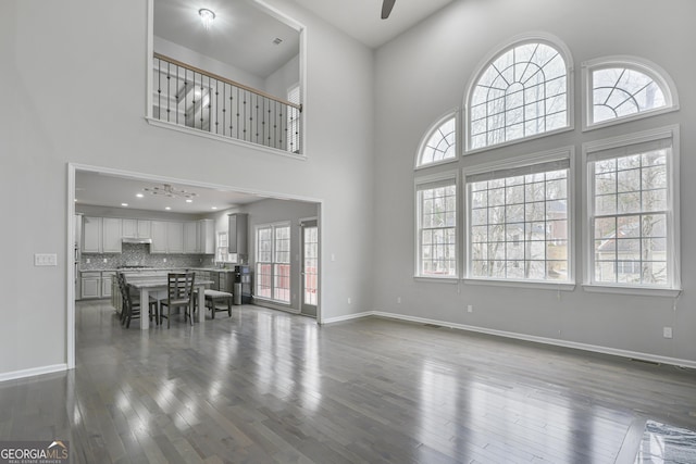
[[[382,20],[382,0],[295,0],[368,47],[380,47],[452,0],[396,0]]]

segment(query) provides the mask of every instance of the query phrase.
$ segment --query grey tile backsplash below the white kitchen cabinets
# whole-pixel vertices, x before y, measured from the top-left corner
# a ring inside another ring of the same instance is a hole
[[[213,265],[213,258],[212,254],[150,254],[149,244],[123,243],[120,254],[83,253],[79,268],[99,271],[114,269],[119,266],[200,267]]]

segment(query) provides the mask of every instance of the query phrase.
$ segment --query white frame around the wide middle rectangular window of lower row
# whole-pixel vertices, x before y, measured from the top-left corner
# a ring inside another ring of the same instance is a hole
[[[568,168],[568,279],[567,280],[533,280],[533,279],[499,279],[492,277],[474,277],[471,269],[471,198],[467,176],[485,174],[498,170],[513,170],[536,164],[549,163],[554,161],[569,161]],[[464,283],[472,285],[490,285],[501,287],[537,288],[558,291],[573,291],[575,289],[575,147],[568,146],[555,150],[531,153],[515,156],[513,160],[497,161],[478,164],[462,170],[462,188],[464,197],[464,247],[467,255],[464,259],[465,274]]]

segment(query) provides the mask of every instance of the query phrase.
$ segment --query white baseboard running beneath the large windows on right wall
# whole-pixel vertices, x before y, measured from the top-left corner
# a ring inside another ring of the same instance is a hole
[[[551,346],[556,346],[556,347],[572,348],[572,349],[575,349],[575,350],[592,351],[592,352],[601,353],[601,354],[611,354],[611,355],[614,355],[614,356],[629,358],[629,359],[642,360],[642,361],[649,361],[649,362],[652,362],[652,363],[670,364],[670,365],[674,365],[674,366],[679,366],[679,367],[696,368],[696,362],[689,361],[689,360],[681,360],[681,359],[678,359],[678,358],[660,356],[660,355],[657,355],[657,354],[641,353],[641,352],[637,352],[637,351],[620,350],[620,349],[617,349],[617,348],[600,347],[600,346],[596,346],[596,344],[580,343],[580,342],[576,342],[576,341],[559,340],[559,339],[556,339],[556,338],[547,338],[547,337],[537,337],[537,336],[533,336],[533,335],[515,334],[515,333],[512,333],[512,331],[496,330],[496,329],[490,329],[490,328],[485,328],[485,327],[475,327],[475,326],[469,326],[469,325],[464,325],[464,324],[456,324],[456,323],[450,323],[450,322],[445,322],[445,321],[430,319],[430,318],[425,318],[425,317],[406,316],[406,315],[402,315],[402,314],[395,314],[395,313],[385,313],[385,312],[382,312],[382,311],[369,311],[369,312],[359,313],[359,314],[355,314],[355,315],[351,314],[350,317],[346,317],[346,319],[356,318],[356,317],[365,317],[365,316],[377,316],[377,317],[407,321],[407,322],[419,323],[419,324],[432,324],[432,325],[438,325],[438,326],[443,326],[443,327],[455,328],[455,329],[459,329],[459,330],[475,331],[475,333],[480,333],[480,334],[494,335],[494,336],[497,336],[497,337],[506,337],[506,338],[512,338],[512,339],[517,339],[517,340],[533,341],[535,343],[544,343],[544,344],[551,344]]]

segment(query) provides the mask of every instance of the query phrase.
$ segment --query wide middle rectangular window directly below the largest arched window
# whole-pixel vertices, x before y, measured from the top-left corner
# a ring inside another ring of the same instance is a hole
[[[570,156],[468,172],[468,277],[572,281]]]

